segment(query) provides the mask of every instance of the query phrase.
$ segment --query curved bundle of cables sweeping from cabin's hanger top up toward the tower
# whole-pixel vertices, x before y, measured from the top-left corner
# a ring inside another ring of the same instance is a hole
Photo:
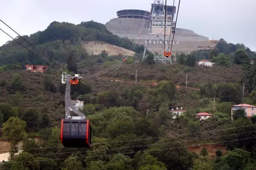
[[[143,19],[143,24],[142,24],[141,27],[140,27],[140,32],[139,32],[139,34],[141,34],[141,32],[142,32],[144,24],[145,24],[145,17],[144,17],[144,19]],[[134,40],[133,45],[131,46],[131,48],[130,48],[130,50],[127,52],[127,54],[125,54],[125,56],[124,56],[122,59],[120,59],[118,62],[116,62],[116,64],[114,64],[114,65],[112,65],[111,67],[109,67],[109,68],[107,68],[107,69],[105,69],[105,70],[103,70],[103,71],[100,71],[100,72],[98,72],[98,73],[96,73],[96,74],[92,74],[92,75],[90,75],[90,76],[82,77],[82,79],[88,79],[88,78],[91,78],[91,77],[96,77],[96,76],[99,76],[99,75],[101,75],[101,74],[105,74],[106,72],[108,72],[108,71],[110,71],[110,70],[112,70],[112,69],[114,69],[114,68],[116,68],[116,67],[118,67],[118,66],[120,67],[120,65],[124,62],[124,59],[127,59],[127,58],[129,57],[129,55],[131,54],[131,51],[133,51],[133,50],[135,49],[135,47],[136,47],[136,45],[137,45],[137,42],[138,42],[138,40],[140,39],[140,38],[139,38],[139,34],[137,35],[136,39]],[[119,62],[120,62],[120,63],[119,63]],[[119,67],[118,67],[118,68],[119,68]]]

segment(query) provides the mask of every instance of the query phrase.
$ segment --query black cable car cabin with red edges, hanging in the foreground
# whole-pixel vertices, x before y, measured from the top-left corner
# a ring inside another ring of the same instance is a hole
[[[91,127],[89,120],[62,119],[61,143],[64,147],[90,148]]]

